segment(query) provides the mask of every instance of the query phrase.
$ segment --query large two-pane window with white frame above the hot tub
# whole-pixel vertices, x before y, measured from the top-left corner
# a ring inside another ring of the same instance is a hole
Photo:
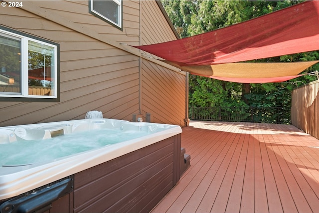
[[[56,43],[0,27],[0,100],[58,101]]]

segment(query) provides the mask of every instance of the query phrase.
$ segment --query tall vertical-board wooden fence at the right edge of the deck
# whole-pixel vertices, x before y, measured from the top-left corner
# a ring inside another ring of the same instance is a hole
[[[291,122],[319,139],[319,81],[295,89],[292,93]]]

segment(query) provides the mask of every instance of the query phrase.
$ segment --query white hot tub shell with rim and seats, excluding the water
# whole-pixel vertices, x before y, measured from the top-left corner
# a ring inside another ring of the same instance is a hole
[[[141,137],[126,139],[115,144],[102,145],[80,153],[62,156],[50,161],[25,164],[5,163],[0,156],[0,201],[55,182],[72,174],[147,147],[182,132],[180,126],[133,123],[114,119],[84,119],[0,128],[0,147],[14,143],[46,143],[53,138],[89,132],[111,130],[120,135],[141,133]],[[145,133],[145,134],[144,134]],[[39,141],[39,142],[38,142]],[[81,143],[81,140],[78,140]],[[5,152],[0,148],[1,152]],[[12,153],[13,154],[13,153]],[[10,153],[6,153],[10,155]],[[27,159],[28,156],[25,156]],[[39,156],[41,159],[41,156]]]

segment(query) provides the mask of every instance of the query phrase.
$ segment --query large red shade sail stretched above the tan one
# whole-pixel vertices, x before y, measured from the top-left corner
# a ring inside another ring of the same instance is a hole
[[[319,1],[174,41],[135,46],[179,66],[211,65],[319,49]]]

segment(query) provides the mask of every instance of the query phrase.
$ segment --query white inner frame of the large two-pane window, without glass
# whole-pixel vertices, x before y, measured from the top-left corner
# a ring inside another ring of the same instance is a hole
[[[45,98],[45,99],[56,99],[58,97],[58,64],[57,64],[57,46],[43,42],[41,40],[37,40],[31,37],[23,36],[14,32],[6,31],[0,29],[0,32],[9,36],[14,36],[21,39],[21,93],[10,93],[10,94],[2,94],[0,93],[0,97],[13,97],[13,98]],[[28,94],[28,41],[34,41],[37,43],[45,44],[47,46],[51,46],[54,48],[54,95],[29,95]]]

